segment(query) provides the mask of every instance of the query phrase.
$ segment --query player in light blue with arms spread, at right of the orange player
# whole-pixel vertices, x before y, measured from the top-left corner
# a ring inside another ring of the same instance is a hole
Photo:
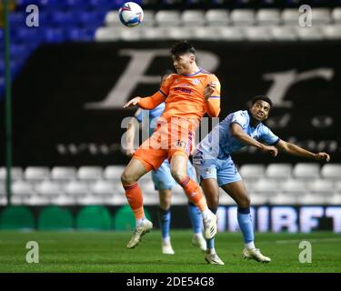
[[[268,97],[256,96],[249,110],[240,110],[227,115],[216,125],[196,147],[193,155],[193,163],[200,176],[207,205],[212,212],[216,213],[219,203],[219,187],[236,201],[238,225],[245,242],[243,257],[263,263],[270,262],[271,259],[263,256],[255,246],[250,198],[231,154],[244,146],[255,146],[272,156],[276,156],[277,149],[279,149],[289,155],[303,156],[317,161],[328,162],[330,159],[326,153],[314,154],[273,134],[266,125],[262,124],[269,115],[271,107],[272,102]],[[206,262],[224,265],[224,262],[216,255],[214,239],[206,240],[206,242]]]

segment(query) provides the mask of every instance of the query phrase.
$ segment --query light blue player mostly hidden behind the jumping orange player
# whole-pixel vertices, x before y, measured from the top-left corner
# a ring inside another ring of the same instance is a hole
[[[162,75],[162,81],[172,74],[171,71],[166,71]],[[157,119],[162,115],[165,109],[165,103],[161,103],[152,110],[138,109],[135,113],[135,118],[137,121],[144,125],[145,122],[149,125],[149,135],[154,132],[155,126],[157,124]],[[126,133],[127,149],[125,154],[127,156],[132,156],[134,153],[134,135],[135,135],[135,124],[130,122]],[[191,162],[187,162],[187,175],[196,181],[196,170],[192,166]],[[172,198],[172,188],[176,186],[176,181],[172,177],[170,172],[170,164],[168,160],[156,170],[152,171],[152,178],[155,186],[155,190],[159,193],[159,223],[162,233],[162,253],[165,255],[174,255],[175,251],[171,245],[170,241],[170,221],[171,221],[171,198]],[[191,202],[188,202],[188,213],[193,226],[194,236],[192,237],[192,244],[199,246],[201,250],[206,250],[206,240],[202,234],[202,218],[199,209]]]

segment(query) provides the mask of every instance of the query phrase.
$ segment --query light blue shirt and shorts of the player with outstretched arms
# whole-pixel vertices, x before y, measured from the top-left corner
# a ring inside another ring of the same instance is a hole
[[[238,124],[243,131],[252,138],[266,145],[274,146],[279,137],[262,123],[252,127],[247,110],[236,111],[216,125],[196,147],[193,161],[196,172],[203,178],[215,178],[218,185],[233,183],[241,180],[231,154],[242,149],[246,144],[238,141],[231,133],[230,126]]]

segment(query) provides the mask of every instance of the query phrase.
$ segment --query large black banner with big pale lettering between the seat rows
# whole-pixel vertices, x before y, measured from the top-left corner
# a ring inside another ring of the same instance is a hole
[[[198,64],[222,85],[220,119],[246,109],[255,95],[269,95],[275,108],[267,121],[276,135],[341,162],[341,43],[193,42]],[[172,67],[173,42],[42,45],[13,87],[15,166],[119,165],[121,122],[135,113],[122,105],[152,95],[159,74]],[[0,148],[4,148],[1,138]],[[0,164],[5,164],[1,155]],[[306,161],[254,149],[236,164]]]

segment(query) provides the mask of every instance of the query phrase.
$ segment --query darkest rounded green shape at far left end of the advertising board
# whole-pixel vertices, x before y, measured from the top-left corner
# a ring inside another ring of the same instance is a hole
[[[9,206],[0,215],[0,229],[35,229],[35,218],[25,206]]]

